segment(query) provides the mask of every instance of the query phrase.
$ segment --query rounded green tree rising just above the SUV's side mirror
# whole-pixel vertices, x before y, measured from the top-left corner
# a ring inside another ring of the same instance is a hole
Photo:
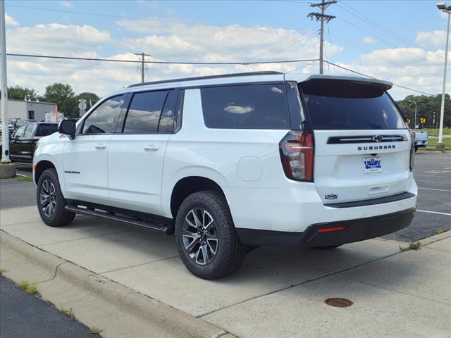
[[[66,116],[78,116],[78,101],[70,84],[55,83],[47,86],[44,99],[58,105],[58,111]]]

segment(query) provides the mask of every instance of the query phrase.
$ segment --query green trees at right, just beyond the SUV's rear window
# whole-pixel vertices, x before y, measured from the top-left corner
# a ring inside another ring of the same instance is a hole
[[[438,127],[438,123],[440,121],[440,105],[442,102],[442,94],[433,96],[409,95],[404,99],[397,101],[398,106],[400,106],[401,111],[404,113],[406,118],[409,118],[412,121],[412,123],[410,123],[409,125],[409,127],[411,128],[414,127],[414,102],[416,102],[416,124],[421,127],[421,123],[419,123],[420,118],[426,118],[426,123],[423,127]],[[433,125],[434,116],[435,125]],[[445,114],[443,118],[443,127],[451,127],[451,99],[449,94],[445,94]]]

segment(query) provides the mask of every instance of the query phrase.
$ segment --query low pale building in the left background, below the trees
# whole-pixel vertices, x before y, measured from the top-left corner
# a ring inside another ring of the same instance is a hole
[[[8,120],[45,121],[46,113],[55,113],[55,104],[51,102],[23,101],[8,99]]]

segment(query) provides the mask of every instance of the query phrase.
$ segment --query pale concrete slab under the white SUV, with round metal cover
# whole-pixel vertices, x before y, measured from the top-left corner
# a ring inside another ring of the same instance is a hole
[[[424,240],[419,251],[401,252],[400,245],[407,244],[383,239],[331,251],[260,248],[235,275],[206,281],[185,269],[174,237],[89,217],[51,228],[40,221],[36,207],[0,214],[3,237],[17,237],[61,262],[149,296],[191,316],[195,325],[211,325],[204,327],[204,337],[227,332],[238,337],[449,337],[451,332],[450,232]],[[11,267],[11,252],[1,249],[1,268],[13,275],[20,267]],[[354,305],[334,308],[324,303],[330,297]]]

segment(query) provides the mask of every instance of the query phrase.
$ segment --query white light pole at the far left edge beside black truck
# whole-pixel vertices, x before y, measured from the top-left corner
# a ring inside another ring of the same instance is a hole
[[[1,163],[10,163],[9,130],[6,109],[8,109],[8,86],[6,82],[6,33],[5,33],[5,1],[0,0],[0,51],[1,51]]]

